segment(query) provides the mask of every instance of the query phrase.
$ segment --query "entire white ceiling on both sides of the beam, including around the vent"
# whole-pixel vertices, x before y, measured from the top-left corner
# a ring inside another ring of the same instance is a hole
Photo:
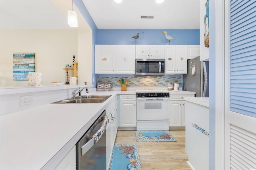
[[[98,29],[200,29],[200,0],[83,0]],[[0,0],[0,29],[74,29],[71,0]],[[88,24],[78,13],[78,27]],[[154,16],[154,19],[140,19]],[[84,24],[85,23],[85,24]]]

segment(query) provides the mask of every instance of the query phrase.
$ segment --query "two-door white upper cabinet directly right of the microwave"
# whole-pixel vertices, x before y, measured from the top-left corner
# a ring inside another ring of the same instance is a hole
[[[164,45],[165,74],[187,74],[187,45]]]

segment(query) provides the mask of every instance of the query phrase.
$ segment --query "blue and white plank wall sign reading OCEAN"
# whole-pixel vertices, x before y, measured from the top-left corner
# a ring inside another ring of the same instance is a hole
[[[12,80],[28,80],[29,72],[35,72],[35,53],[13,53]]]

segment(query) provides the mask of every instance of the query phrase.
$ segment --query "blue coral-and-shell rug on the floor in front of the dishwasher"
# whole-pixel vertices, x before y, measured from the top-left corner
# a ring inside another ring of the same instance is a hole
[[[137,145],[114,145],[109,170],[141,170]]]

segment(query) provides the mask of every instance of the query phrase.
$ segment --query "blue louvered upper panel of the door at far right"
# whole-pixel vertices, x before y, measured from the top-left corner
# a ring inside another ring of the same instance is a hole
[[[230,0],[230,110],[256,117],[256,0]]]

